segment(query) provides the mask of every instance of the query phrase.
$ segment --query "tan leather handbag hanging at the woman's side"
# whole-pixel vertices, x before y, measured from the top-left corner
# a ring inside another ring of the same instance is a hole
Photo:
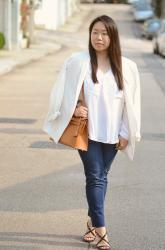
[[[85,106],[84,83],[82,85],[81,105]],[[59,143],[75,149],[88,150],[88,120],[82,117],[72,116],[68,126],[60,137]]]

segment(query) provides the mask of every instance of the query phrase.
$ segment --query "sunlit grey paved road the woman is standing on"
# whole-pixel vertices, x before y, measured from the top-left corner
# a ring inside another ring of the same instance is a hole
[[[102,13],[117,21],[123,54],[137,62],[142,83],[143,140],[134,162],[118,154],[109,175],[105,212],[112,250],[165,249],[165,63],[139,38],[130,6],[90,8],[79,32],[49,32],[49,39],[62,42],[61,51],[1,77],[1,250],[93,248],[81,242],[87,204],[79,156],[49,143],[41,127],[62,62],[86,48],[89,22]]]

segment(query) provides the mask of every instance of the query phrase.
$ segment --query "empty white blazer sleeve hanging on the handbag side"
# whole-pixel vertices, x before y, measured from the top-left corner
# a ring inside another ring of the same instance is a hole
[[[45,122],[53,121],[60,115],[60,107],[63,100],[64,88],[66,82],[65,79],[66,79],[67,63],[68,59],[64,62],[57,76],[57,79],[52,87],[49,97],[48,113]]]

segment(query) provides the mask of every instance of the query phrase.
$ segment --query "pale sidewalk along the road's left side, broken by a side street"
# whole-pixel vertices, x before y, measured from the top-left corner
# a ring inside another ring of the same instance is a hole
[[[74,13],[57,32],[74,33],[78,31],[88,16],[90,9],[90,5],[80,5],[78,12]],[[33,43],[29,49],[14,51],[0,50],[0,76],[12,71],[16,67],[39,60],[62,48],[60,43],[48,41],[47,32],[43,31],[46,30],[41,30],[42,37],[43,34],[45,34],[45,38],[41,41],[39,35],[40,30],[36,30],[35,43]]]

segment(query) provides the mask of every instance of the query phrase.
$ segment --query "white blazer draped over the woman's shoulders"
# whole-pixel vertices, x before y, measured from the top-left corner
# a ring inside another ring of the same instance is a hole
[[[43,130],[58,143],[67,127],[79,98],[90,61],[89,52],[74,53],[69,57],[52,88],[48,114]],[[123,152],[133,160],[135,141],[140,141],[140,80],[136,63],[122,57],[124,96],[129,124],[129,142]]]

